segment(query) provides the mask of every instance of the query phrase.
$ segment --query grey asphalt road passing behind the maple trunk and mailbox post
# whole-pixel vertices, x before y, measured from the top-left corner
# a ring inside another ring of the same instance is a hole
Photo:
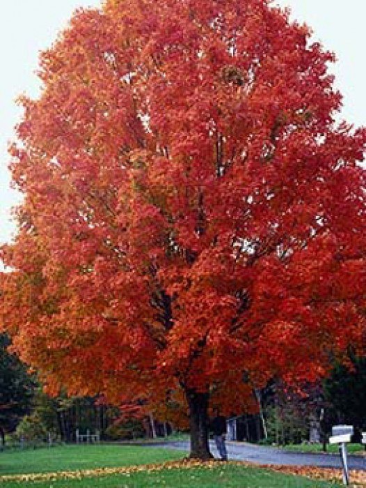
[[[159,443],[172,449],[189,450],[189,442]],[[218,457],[214,442],[209,443],[212,454]],[[227,442],[228,458],[237,461],[248,461],[257,464],[281,464],[283,466],[319,466],[324,468],[341,468],[340,456],[331,454],[304,454],[286,452],[282,449],[269,448],[242,442]],[[366,458],[349,456],[350,469],[366,471]]]

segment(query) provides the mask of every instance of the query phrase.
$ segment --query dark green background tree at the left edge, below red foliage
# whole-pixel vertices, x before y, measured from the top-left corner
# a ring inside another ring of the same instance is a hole
[[[0,334],[0,436],[5,445],[6,432],[13,432],[17,423],[29,413],[35,392],[35,379],[27,373],[26,365],[8,352],[10,340]]]

